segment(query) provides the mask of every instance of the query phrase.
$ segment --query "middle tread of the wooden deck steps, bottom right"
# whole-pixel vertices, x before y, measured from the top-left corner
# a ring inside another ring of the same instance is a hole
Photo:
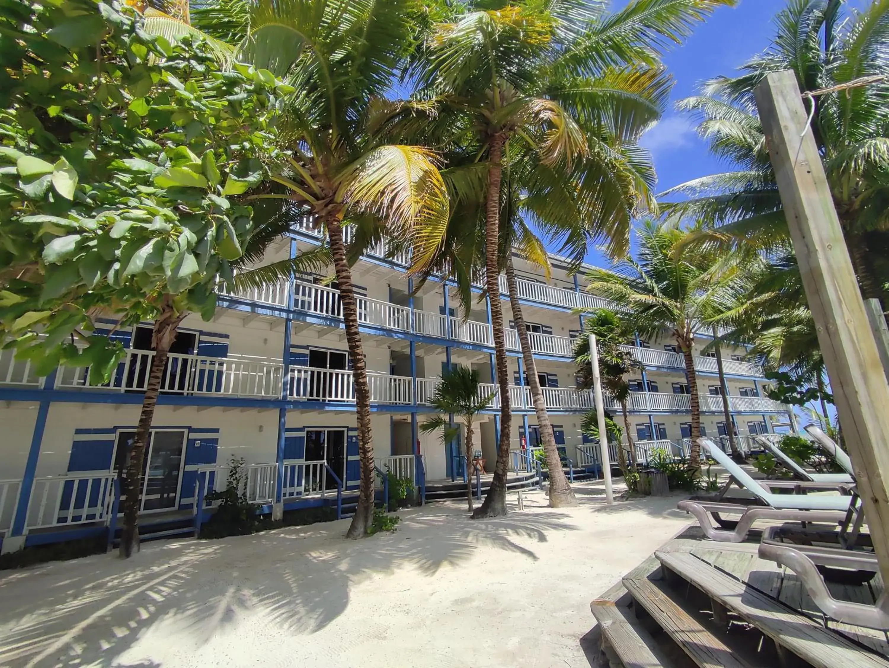
[[[678,554],[694,559],[691,555]],[[636,604],[645,608],[695,664],[701,668],[749,668],[749,664],[734,656],[722,640],[670,600],[655,583],[647,578],[629,577],[625,577],[623,583]]]

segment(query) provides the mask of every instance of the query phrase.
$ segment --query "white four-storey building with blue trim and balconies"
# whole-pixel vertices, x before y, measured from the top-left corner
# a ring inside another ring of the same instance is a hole
[[[270,249],[267,262],[316,245],[297,229]],[[495,391],[489,311],[477,302],[464,319],[453,284],[429,281],[414,292],[403,259],[367,254],[354,268],[364,354],[372,392],[377,466],[418,484],[463,475],[462,448],[424,435],[428,399],[448,365],[471,366]],[[608,306],[582,290],[582,278],[553,260],[546,279],[517,259],[519,296],[537,373],[556,440],[572,466],[597,463],[581,435],[589,390],[574,389],[576,309]],[[506,293],[501,277],[501,293]],[[481,294],[480,288],[477,294]],[[511,326],[509,298],[500,296]],[[45,378],[0,351],[0,536],[3,551],[91,535],[116,521],[116,471],[139,419],[148,378],[150,323],[117,328],[100,321],[127,355],[109,383],[96,387],[89,369],[60,368]],[[695,366],[707,435],[725,434],[716,359]],[[641,456],[675,447],[689,436],[684,363],[675,342],[628,342],[643,362],[631,379],[630,422]],[[507,332],[513,386],[512,447],[536,447],[539,437],[525,387],[517,335]],[[763,371],[724,350],[729,401],[742,437],[773,431],[787,406],[762,396]],[[261,291],[222,294],[212,322],[189,315],[173,344],[158,400],[143,488],[146,518],[186,516],[207,490],[224,487],[228,462],[244,458],[252,500],[270,509],[334,503],[358,484],[354,393],[340,301],[325,277],[301,276]],[[482,419],[477,449],[493,471],[500,434],[499,404]],[[616,406],[611,405],[615,418]],[[669,443],[668,443],[669,442]],[[320,501],[319,501],[320,499]],[[200,513],[198,513],[200,514]],[[78,527],[78,531],[73,529]],[[108,528],[103,529],[108,531]]]

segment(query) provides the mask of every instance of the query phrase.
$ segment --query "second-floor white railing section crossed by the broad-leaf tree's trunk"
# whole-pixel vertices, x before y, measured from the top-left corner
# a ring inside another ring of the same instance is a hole
[[[111,379],[95,384],[90,366],[61,366],[56,387],[76,390],[145,391],[153,350],[127,350]],[[219,394],[231,397],[279,397],[283,366],[237,358],[211,358],[170,353],[161,390],[176,394]]]

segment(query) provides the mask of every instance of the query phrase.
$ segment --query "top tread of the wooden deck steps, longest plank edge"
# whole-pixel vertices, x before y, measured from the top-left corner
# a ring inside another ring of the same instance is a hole
[[[710,598],[757,627],[782,647],[815,668],[889,668],[889,661],[856,647],[842,634],[829,631],[755,589],[718,572],[691,554],[656,552],[661,563],[693,583]]]

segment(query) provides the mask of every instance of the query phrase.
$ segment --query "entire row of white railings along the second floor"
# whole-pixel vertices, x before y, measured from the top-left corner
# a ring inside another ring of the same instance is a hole
[[[62,366],[55,374],[52,387],[38,377],[27,361],[12,358],[12,351],[0,351],[0,384],[24,388],[56,390],[84,390],[107,392],[144,392],[148,374],[155,357],[152,350],[127,350],[108,382],[100,383],[92,376],[89,366]],[[286,374],[286,382],[284,377]],[[394,406],[428,406],[440,382],[438,378],[417,378],[381,372],[368,372],[371,401]],[[585,412],[595,406],[591,390],[573,387],[541,388],[549,410]],[[284,364],[275,360],[245,358],[214,358],[202,355],[170,353],[161,379],[164,394],[182,396],[211,396],[229,398],[289,399],[353,404],[355,383],[352,372],[312,366],[291,365],[285,372]],[[491,409],[501,407],[500,391],[496,384],[482,385],[482,396],[493,395]],[[533,411],[531,390],[524,386],[509,388],[510,404],[517,410]],[[701,411],[721,413],[722,398],[701,395]],[[733,413],[786,413],[785,406],[765,397],[729,397]],[[617,412],[620,405],[605,398],[605,407]],[[690,396],[664,392],[631,392],[629,410],[632,413],[691,412]]]

